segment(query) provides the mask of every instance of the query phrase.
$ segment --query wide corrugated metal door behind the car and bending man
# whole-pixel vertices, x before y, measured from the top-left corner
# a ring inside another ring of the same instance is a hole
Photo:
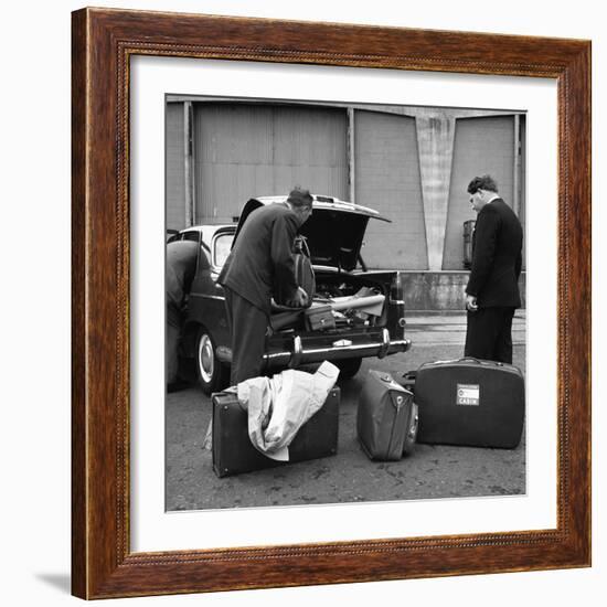
[[[196,104],[196,223],[223,223],[255,195],[301,185],[348,192],[344,109]]]

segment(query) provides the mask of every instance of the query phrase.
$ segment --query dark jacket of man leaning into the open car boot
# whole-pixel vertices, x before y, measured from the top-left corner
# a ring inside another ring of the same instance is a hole
[[[292,258],[297,228],[297,215],[284,204],[256,209],[243,224],[217,281],[269,316],[276,285],[288,297],[297,290]]]

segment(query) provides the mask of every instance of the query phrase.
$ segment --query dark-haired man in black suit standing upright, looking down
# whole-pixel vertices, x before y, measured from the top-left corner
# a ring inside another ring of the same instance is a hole
[[[512,317],[521,307],[523,230],[490,175],[472,179],[468,193],[477,223],[466,287],[468,329],[464,355],[512,364]]]

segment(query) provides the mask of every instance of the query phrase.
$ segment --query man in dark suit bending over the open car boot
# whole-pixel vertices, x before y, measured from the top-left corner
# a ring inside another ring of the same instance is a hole
[[[312,212],[308,190],[295,188],[285,203],[262,206],[246,219],[217,281],[225,290],[232,336],[231,384],[262,372],[270,299],[277,285],[287,305],[302,307],[306,291],[295,278],[292,244]]]

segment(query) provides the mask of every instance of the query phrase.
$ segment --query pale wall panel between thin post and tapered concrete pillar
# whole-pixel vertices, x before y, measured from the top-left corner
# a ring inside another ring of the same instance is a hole
[[[356,110],[355,202],[392,223],[369,222],[362,256],[372,268],[426,269],[426,228],[415,118]]]

